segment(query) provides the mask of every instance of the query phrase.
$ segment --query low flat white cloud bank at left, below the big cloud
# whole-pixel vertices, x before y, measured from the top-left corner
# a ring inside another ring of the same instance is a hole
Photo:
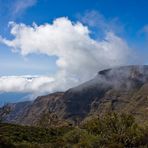
[[[53,78],[45,76],[3,76],[0,77],[0,91],[43,93],[48,92],[46,85],[53,81]]]

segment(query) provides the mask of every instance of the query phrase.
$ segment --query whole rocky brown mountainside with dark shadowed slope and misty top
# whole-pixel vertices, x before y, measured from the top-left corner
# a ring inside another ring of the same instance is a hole
[[[41,96],[32,103],[15,104],[4,120],[37,125],[47,115],[49,124],[63,120],[77,123],[110,111],[131,113],[138,122],[148,120],[148,66],[100,71],[94,79],[66,92]]]

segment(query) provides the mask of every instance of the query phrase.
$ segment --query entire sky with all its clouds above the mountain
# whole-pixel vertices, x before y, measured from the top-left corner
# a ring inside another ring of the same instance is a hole
[[[0,0],[0,92],[64,91],[147,64],[147,10],[146,0]]]

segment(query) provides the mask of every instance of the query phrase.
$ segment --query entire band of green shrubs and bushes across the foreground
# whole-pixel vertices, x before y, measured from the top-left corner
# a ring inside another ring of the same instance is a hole
[[[0,148],[124,148],[147,147],[148,128],[133,116],[111,113],[79,126],[39,128],[0,124]]]

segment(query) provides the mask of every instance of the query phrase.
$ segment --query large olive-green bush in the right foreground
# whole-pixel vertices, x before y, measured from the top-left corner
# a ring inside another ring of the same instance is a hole
[[[107,114],[86,122],[83,126],[89,133],[100,136],[100,145],[136,147],[142,145],[144,133],[131,115]]]

